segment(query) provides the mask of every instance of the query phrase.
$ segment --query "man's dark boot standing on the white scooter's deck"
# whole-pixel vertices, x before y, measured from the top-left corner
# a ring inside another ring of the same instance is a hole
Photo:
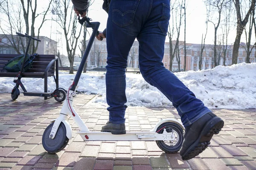
[[[124,123],[117,124],[117,123],[112,123],[110,121],[108,121],[106,125],[102,126],[101,131],[102,132],[111,132],[113,135],[126,134]]]

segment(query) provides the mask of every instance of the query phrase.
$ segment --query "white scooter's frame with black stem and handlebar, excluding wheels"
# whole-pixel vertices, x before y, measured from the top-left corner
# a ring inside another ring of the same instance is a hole
[[[82,57],[81,64],[79,65],[79,69],[77,71],[73,84],[70,86],[70,88],[67,91],[66,99],[61,108],[61,113],[58,116],[58,118],[54,120],[54,124],[52,126],[52,130],[49,135],[49,138],[54,139],[61,122],[63,122],[66,127],[67,138],[68,139],[72,138],[72,128],[70,124],[67,122],[67,116],[70,115],[74,119],[75,123],[78,125],[80,130],[78,134],[82,137],[84,141],[154,141],[154,140],[172,141],[172,140],[175,140],[175,134],[166,132],[166,129],[164,129],[163,133],[161,134],[157,133],[156,130],[157,130],[157,127],[159,127],[164,122],[174,122],[184,130],[183,125],[177,119],[162,119],[160,120],[160,122],[157,123],[157,125],[155,125],[155,127],[151,131],[146,131],[146,132],[144,131],[129,132],[128,131],[126,132],[126,134],[122,134],[122,135],[113,135],[111,134],[111,132],[90,131],[87,128],[87,126],[84,124],[84,122],[80,118],[79,114],[73,108],[72,104],[73,104],[73,99],[76,96],[76,89],[78,88],[77,84],[78,84],[79,78],[81,76],[82,70],[84,68],[84,64],[90,52],[90,48],[93,45],[94,37],[96,36],[96,34],[99,34],[98,28],[100,23],[90,22],[90,18],[88,17],[84,17],[82,19],[78,17],[78,20],[79,20],[79,23],[81,23],[81,25],[83,25],[84,22],[86,21],[87,28],[93,28],[93,33],[90,37],[87,48]]]

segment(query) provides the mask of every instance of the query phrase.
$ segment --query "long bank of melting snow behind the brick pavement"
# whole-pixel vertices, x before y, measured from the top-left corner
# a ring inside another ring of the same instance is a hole
[[[208,108],[243,109],[256,107],[255,70],[256,63],[254,62],[226,67],[219,65],[213,69],[179,72],[175,75]],[[68,73],[68,71],[59,71],[60,88],[68,89],[73,83],[75,74]],[[27,91],[44,91],[44,79],[22,78],[21,81]],[[127,105],[172,107],[172,102],[157,88],[145,82],[141,74],[127,73],[126,84]],[[13,78],[0,77],[0,93],[11,93],[14,85]],[[93,102],[108,106],[105,94],[105,72],[87,71],[83,73],[78,86],[78,97],[83,94],[96,94]],[[54,79],[49,77],[49,92],[53,92],[55,87]],[[20,91],[22,92],[21,88]]]

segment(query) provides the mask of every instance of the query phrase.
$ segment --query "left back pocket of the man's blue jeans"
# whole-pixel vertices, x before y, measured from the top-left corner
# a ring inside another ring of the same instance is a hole
[[[133,23],[140,0],[113,0],[112,22],[120,27]]]

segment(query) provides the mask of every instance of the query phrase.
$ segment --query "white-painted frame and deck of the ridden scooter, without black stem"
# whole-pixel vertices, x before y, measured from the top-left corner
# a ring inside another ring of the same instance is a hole
[[[78,87],[78,86],[77,86]],[[160,120],[155,127],[150,131],[127,131],[126,134],[122,135],[113,135],[111,132],[98,132],[98,131],[90,131],[87,126],[82,121],[79,114],[73,108],[73,99],[76,97],[75,91],[67,91],[66,99],[64,104],[61,108],[61,113],[57,119],[53,120],[54,124],[52,126],[51,133],[49,135],[50,139],[54,139],[56,132],[58,130],[59,125],[61,122],[64,123],[66,127],[66,136],[68,139],[72,138],[72,128],[70,124],[67,122],[67,116],[70,115],[74,122],[79,127],[79,132],[77,132],[84,141],[156,141],[156,140],[175,140],[175,134],[166,132],[164,129],[163,133],[159,134],[156,133],[157,127],[159,127],[164,122],[174,122],[179,125],[183,130],[184,127],[177,119],[162,119]],[[53,122],[52,121],[52,122]]]

